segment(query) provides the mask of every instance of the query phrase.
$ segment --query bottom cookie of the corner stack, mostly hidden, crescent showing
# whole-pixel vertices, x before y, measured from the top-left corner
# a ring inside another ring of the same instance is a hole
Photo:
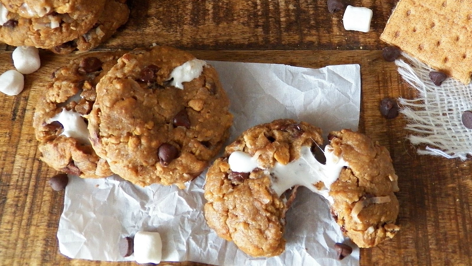
[[[57,54],[68,54],[74,50],[81,52],[92,50],[109,39],[118,27],[125,24],[128,16],[129,8],[125,1],[107,0],[103,13],[91,30],[50,50]]]

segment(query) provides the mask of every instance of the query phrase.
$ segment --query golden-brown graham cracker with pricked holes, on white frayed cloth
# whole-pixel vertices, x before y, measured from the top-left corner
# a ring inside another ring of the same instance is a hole
[[[380,40],[468,84],[471,37],[471,0],[400,0]]]

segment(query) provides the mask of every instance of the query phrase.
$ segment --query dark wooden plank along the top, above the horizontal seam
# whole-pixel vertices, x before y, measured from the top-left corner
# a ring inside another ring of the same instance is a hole
[[[330,14],[326,0],[128,0],[128,23],[99,49],[134,49],[153,42],[186,50],[383,48],[380,33],[396,1],[348,3],[372,9],[369,33],[344,30],[344,12]]]

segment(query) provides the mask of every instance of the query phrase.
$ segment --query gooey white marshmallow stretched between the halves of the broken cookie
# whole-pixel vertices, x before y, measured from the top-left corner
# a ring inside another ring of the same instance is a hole
[[[310,147],[302,147],[300,158],[287,165],[276,162],[275,166],[267,171],[272,181],[271,187],[280,197],[282,193],[295,185],[302,185],[311,191],[320,194],[331,204],[333,198],[329,196],[329,188],[334,183],[344,166],[349,166],[342,156],[334,155],[334,150],[327,145],[324,150],[326,165],[321,164],[312,154]],[[250,173],[257,165],[257,157],[251,157],[244,151],[234,151],[228,158],[231,171]],[[324,187],[319,190],[315,184],[322,182]]]

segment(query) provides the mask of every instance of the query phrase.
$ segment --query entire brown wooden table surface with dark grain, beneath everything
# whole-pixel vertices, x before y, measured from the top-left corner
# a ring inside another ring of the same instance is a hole
[[[197,58],[281,63],[300,67],[361,65],[360,131],[386,146],[399,176],[401,231],[376,248],[362,249],[361,265],[472,265],[472,164],[419,156],[405,139],[402,116],[379,113],[385,97],[412,98],[379,41],[394,0],[350,0],[373,10],[371,32],[345,31],[343,12],[326,0],[129,0],[128,23],[96,50],[131,50],[155,42],[189,50]],[[0,46],[0,72],[13,68],[13,47]],[[75,55],[41,52],[42,67],[26,75],[25,90],[0,95],[0,264],[135,265],[69,259],[58,252],[56,232],[63,191],[39,160],[32,128],[34,106],[51,72]],[[166,265],[166,263],[163,263]],[[202,265],[192,262],[172,265]]]

